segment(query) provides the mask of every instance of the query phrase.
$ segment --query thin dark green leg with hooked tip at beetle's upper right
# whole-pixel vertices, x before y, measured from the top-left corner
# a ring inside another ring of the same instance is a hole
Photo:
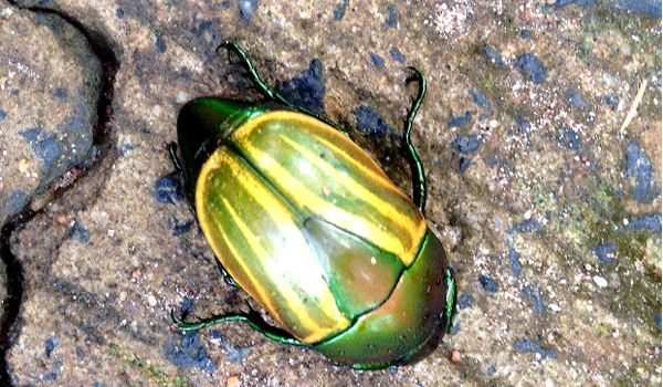
[[[425,209],[425,199],[427,199],[427,187],[425,187],[425,174],[423,170],[423,164],[419,158],[419,154],[417,149],[412,145],[412,140],[410,135],[412,133],[412,124],[414,123],[414,117],[417,116],[417,112],[423,102],[423,97],[425,96],[427,83],[423,74],[414,69],[408,67],[408,70],[413,71],[414,73],[408,77],[406,83],[410,83],[417,81],[419,83],[419,93],[417,94],[417,98],[412,102],[412,106],[410,107],[410,112],[408,113],[408,121],[406,122],[404,129],[404,146],[408,148],[408,163],[410,164],[410,169],[412,170],[412,196],[414,198],[414,205],[419,207],[421,212]]]

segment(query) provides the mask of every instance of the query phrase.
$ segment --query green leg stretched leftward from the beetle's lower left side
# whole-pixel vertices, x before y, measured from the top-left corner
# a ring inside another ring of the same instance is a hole
[[[306,343],[298,341],[297,338],[295,338],[293,335],[291,335],[286,331],[282,330],[277,326],[271,325],[270,323],[264,321],[264,318],[260,315],[260,313],[257,313],[256,311],[254,311],[251,307],[249,307],[249,313],[219,314],[219,315],[206,318],[206,320],[201,320],[196,323],[188,323],[188,322],[185,322],[185,321],[176,317],[175,311],[170,311],[170,318],[172,318],[172,322],[177,325],[177,327],[183,332],[200,331],[204,327],[230,322],[230,321],[243,321],[243,322],[249,323],[249,326],[251,326],[253,330],[262,333],[263,335],[265,335],[265,337],[271,338],[275,342],[278,342],[282,344],[296,345],[296,346],[305,346],[306,345]]]

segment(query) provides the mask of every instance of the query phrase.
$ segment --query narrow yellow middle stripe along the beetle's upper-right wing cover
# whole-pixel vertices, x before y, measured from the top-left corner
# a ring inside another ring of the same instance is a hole
[[[299,154],[304,155],[304,157],[306,157],[306,159],[311,164],[315,165],[323,172],[327,174],[328,176],[338,175],[338,171],[335,168],[333,168],[327,163],[322,163],[319,160],[319,158],[313,151],[311,151],[311,150],[306,149],[305,147],[303,147],[302,145],[293,142],[291,138],[281,136],[281,139],[285,144],[290,145],[293,149],[295,149]],[[403,262],[408,262],[408,264],[409,264],[409,260],[411,260],[414,257],[414,249],[419,248],[419,245],[417,245],[415,241],[417,241],[417,237],[419,237],[419,233],[421,233],[421,231],[422,231],[419,229],[412,230],[412,226],[417,226],[417,223],[412,222],[412,220],[409,217],[403,216],[393,206],[391,206],[390,203],[385,201],[382,198],[380,198],[379,196],[371,192],[365,186],[358,184],[351,176],[349,176],[349,175],[339,176],[338,181],[348,192],[352,192],[352,194],[357,195],[358,198],[362,199],[362,201],[366,206],[372,207],[375,210],[377,210],[383,217],[389,219],[391,221],[391,224],[401,229],[401,231],[403,233],[409,234],[409,242],[410,242],[409,244],[410,245],[406,247],[406,245],[403,245],[403,243],[398,243],[400,245],[400,249],[391,251],[391,252],[396,253],[398,257],[400,257]],[[421,222],[421,223],[423,224],[423,222]],[[393,232],[392,232],[391,237],[387,237],[387,238],[390,238],[391,240],[400,240],[402,238],[402,234],[401,234],[401,238],[398,238],[398,236],[393,236]]]

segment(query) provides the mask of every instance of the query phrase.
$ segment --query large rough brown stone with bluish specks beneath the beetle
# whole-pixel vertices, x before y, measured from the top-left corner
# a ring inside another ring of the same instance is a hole
[[[12,236],[25,275],[14,384],[660,385],[661,6],[579,3],[32,2],[106,36],[122,65],[107,150]],[[406,189],[401,69],[427,74],[413,142],[461,296],[424,360],[356,372],[242,324],[172,330],[171,308],[245,307],[165,149],[189,98],[257,97],[214,53],[231,38],[272,84],[356,128]]]

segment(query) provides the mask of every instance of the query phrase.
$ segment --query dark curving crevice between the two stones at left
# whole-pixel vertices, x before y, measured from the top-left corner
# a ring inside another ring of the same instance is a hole
[[[103,159],[112,149],[108,134],[113,118],[115,74],[119,69],[119,62],[112,49],[114,46],[113,42],[103,33],[86,28],[78,20],[57,10],[21,7],[15,1],[10,1],[10,3],[20,9],[62,18],[85,36],[93,53],[102,64],[99,95],[96,102],[97,121],[93,128],[93,145],[99,149],[99,153],[93,156],[94,159],[83,160],[77,166],[78,169],[82,169],[82,174],[77,175],[81,178],[90,169],[94,168],[98,164],[98,160]],[[57,181],[56,179],[51,184],[49,189],[53,190],[53,197],[57,198],[64,190],[70,189],[72,186],[73,181],[63,185],[62,181]],[[0,318],[0,386],[12,385],[11,373],[7,364],[7,354],[21,330],[20,310],[27,285],[21,261],[11,251],[11,237],[15,230],[23,228],[38,213],[32,211],[30,205],[28,205],[22,212],[11,217],[3,224],[0,232],[0,258],[7,266],[7,297],[2,304],[2,315]]]

